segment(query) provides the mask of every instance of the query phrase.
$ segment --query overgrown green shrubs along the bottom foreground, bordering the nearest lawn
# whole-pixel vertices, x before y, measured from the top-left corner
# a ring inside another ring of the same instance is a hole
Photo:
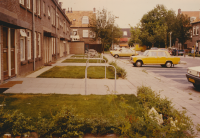
[[[102,109],[100,114],[84,116],[81,112],[77,112],[76,107],[65,105],[55,115],[52,114],[51,118],[46,119],[39,113],[37,121],[33,121],[17,111],[8,113],[2,112],[1,109],[0,128],[3,130],[1,135],[4,132],[22,135],[34,131],[40,137],[83,137],[86,133],[95,135],[115,133],[129,138],[192,138],[195,136],[191,119],[185,115],[185,112],[174,109],[167,98],[160,98],[159,94],[145,86],[138,87],[137,95],[136,98],[135,95],[116,95],[116,92],[110,92],[104,98],[105,108],[109,108],[106,115],[103,114]],[[149,117],[148,112],[152,107],[163,115],[162,125]],[[175,126],[172,125],[171,120],[174,120]]]

